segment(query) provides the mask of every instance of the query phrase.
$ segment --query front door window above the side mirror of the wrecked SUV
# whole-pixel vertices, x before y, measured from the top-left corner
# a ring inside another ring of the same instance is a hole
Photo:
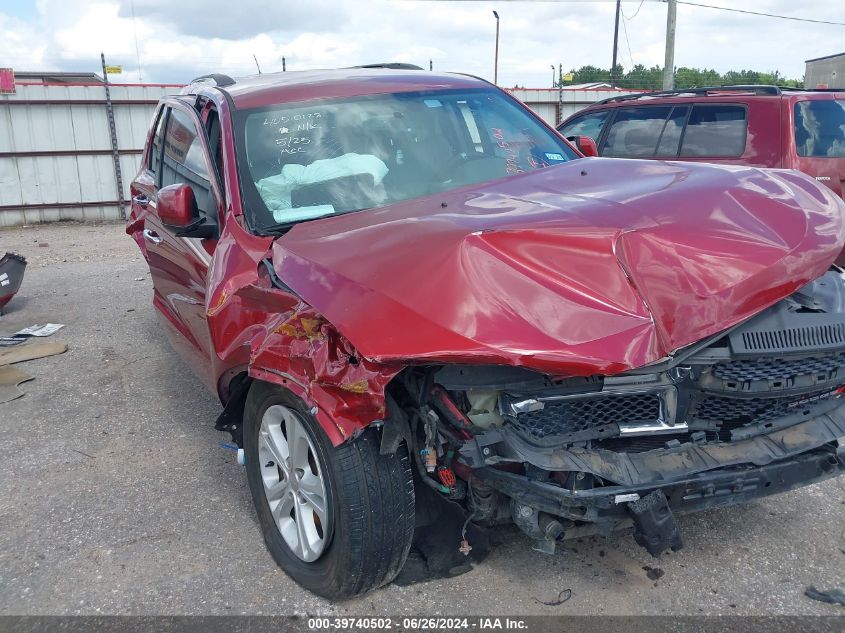
[[[161,186],[190,185],[199,210],[213,215],[210,174],[197,125],[186,112],[171,109],[164,136]]]

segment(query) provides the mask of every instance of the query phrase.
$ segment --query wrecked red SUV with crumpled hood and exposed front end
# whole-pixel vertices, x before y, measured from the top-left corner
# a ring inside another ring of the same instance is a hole
[[[473,77],[201,78],[127,232],[264,540],[331,598],[842,473],[845,205],[795,171],[582,158]]]

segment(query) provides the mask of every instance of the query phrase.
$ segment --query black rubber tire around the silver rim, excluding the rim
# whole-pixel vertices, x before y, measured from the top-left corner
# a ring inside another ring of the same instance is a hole
[[[282,538],[264,492],[258,435],[264,412],[275,404],[296,412],[324,473],[332,534],[320,557],[310,563]],[[396,577],[408,556],[415,521],[411,462],[404,444],[393,455],[381,455],[380,434],[371,428],[334,447],[299,398],[258,381],[246,399],[243,432],[247,479],[264,542],[288,576],[334,600],[366,593]]]

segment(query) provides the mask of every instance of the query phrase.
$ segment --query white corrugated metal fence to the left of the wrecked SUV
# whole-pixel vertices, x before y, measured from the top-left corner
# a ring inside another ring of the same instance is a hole
[[[111,85],[123,200],[155,104],[178,86]],[[102,85],[17,86],[0,96],[0,226],[120,217]]]

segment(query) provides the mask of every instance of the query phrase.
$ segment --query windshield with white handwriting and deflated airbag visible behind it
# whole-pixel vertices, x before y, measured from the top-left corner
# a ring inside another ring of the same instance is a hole
[[[493,89],[276,105],[244,111],[237,126],[247,213],[258,232],[577,157]]]

